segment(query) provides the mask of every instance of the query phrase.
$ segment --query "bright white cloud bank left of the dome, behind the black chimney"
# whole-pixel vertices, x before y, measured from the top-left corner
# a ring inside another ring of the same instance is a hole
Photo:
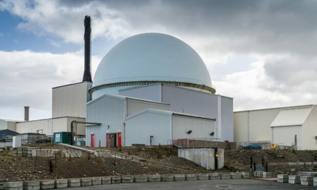
[[[52,54],[0,51],[0,118],[23,118],[30,106],[31,120],[51,117],[52,87],[69,84],[83,75],[83,51]],[[93,70],[101,58],[92,57]]]

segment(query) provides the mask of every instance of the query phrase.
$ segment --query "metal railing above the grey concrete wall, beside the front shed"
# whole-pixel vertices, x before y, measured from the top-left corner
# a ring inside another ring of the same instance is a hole
[[[169,139],[167,144],[180,149],[185,148],[213,148],[217,147],[220,138],[179,138]]]

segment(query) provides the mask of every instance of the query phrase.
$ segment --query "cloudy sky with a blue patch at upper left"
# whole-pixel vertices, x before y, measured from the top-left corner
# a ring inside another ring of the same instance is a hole
[[[317,103],[317,1],[0,0],[0,118],[51,117],[52,87],[83,74],[93,19],[93,75],[119,41],[166,33],[205,61],[234,110]]]

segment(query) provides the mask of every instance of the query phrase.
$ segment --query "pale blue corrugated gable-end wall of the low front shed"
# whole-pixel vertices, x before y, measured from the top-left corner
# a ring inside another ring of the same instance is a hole
[[[150,144],[150,135],[153,135],[152,145],[166,145],[171,135],[171,114],[146,111],[127,118],[124,129],[124,145]]]

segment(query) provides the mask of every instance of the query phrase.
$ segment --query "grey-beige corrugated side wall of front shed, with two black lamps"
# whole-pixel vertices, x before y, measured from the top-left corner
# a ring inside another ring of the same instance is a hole
[[[173,139],[178,138],[215,138],[211,132],[215,132],[213,120],[189,117],[184,115],[173,115]],[[191,130],[191,134],[187,132]]]

